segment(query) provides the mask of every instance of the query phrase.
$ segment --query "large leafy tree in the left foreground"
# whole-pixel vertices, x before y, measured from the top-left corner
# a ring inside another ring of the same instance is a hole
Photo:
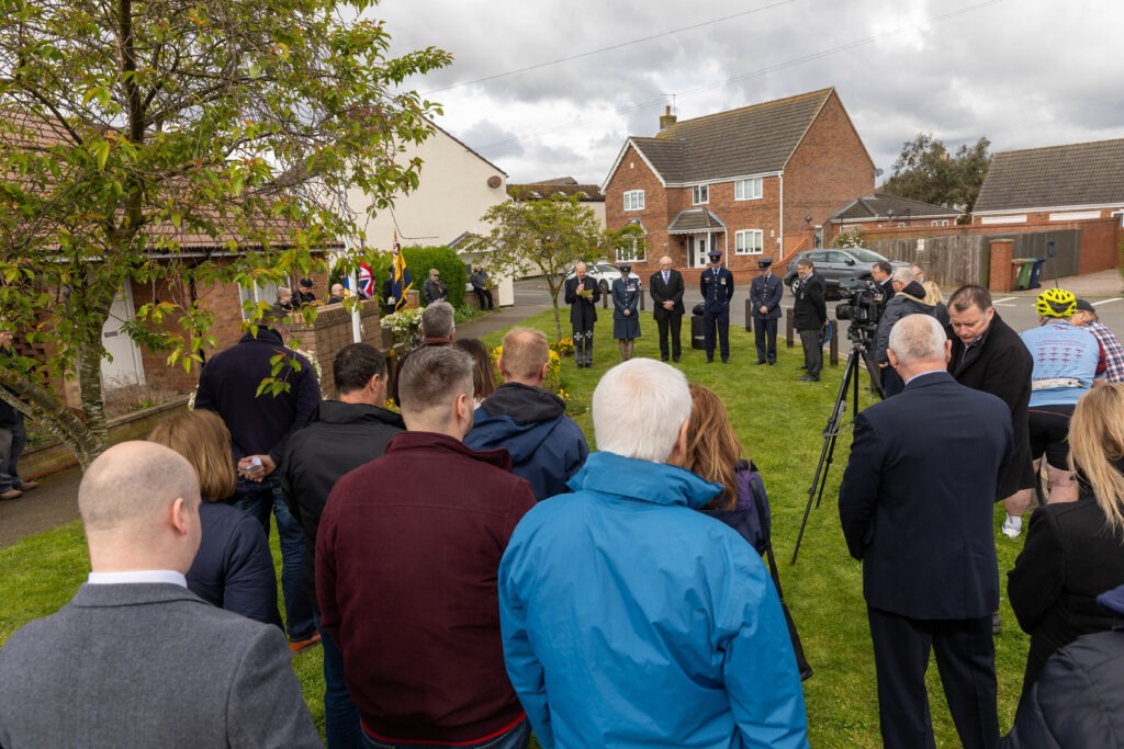
[[[0,0],[0,318],[48,349],[0,367],[0,398],[83,467],[108,442],[101,329],[123,284],[307,274],[314,250],[360,236],[345,188],[380,209],[417,185],[419,163],[395,157],[439,108],[400,84],[451,58],[390,57],[381,22],[342,20],[373,6]],[[221,250],[188,257],[188,240]],[[167,299],[130,335],[190,367],[210,323]],[[63,374],[81,414],[44,385]]]

